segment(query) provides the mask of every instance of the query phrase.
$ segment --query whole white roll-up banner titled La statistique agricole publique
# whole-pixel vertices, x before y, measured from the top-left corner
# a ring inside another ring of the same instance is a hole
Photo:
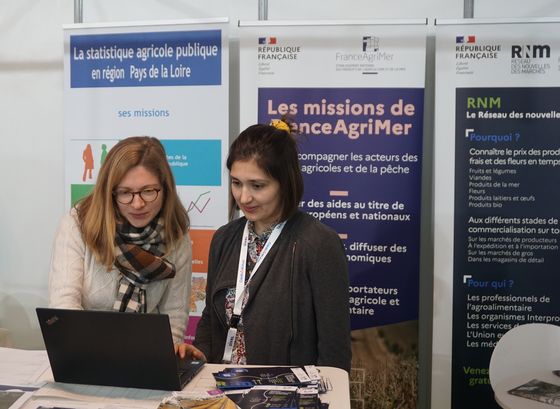
[[[64,27],[66,203],[91,191],[120,139],[161,140],[191,222],[187,340],[204,305],[210,239],[227,222],[228,60],[227,19]]]

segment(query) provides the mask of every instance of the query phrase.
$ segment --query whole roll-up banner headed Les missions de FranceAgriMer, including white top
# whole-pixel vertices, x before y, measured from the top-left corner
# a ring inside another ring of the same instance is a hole
[[[350,268],[353,407],[415,408],[426,20],[240,22],[241,129],[288,114]]]

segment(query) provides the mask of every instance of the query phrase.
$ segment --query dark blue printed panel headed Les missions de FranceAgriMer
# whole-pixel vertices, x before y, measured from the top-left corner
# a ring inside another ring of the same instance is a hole
[[[334,228],[350,268],[352,329],[418,319],[420,88],[260,88],[261,123],[291,115],[302,210]]]

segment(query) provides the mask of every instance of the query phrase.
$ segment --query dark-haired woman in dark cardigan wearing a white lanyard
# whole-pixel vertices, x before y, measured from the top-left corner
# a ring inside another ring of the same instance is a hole
[[[253,125],[230,147],[230,217],[212,239],[194,345],[209,362],[350,370],[348,267],[336,232],[298,210],[289,123]]]

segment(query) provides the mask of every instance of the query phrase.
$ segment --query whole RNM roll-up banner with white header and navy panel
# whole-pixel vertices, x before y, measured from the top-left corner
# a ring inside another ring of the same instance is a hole
[[[559,33],[436,23],[433,407],[497,408],[496,343],[560,322]]]

